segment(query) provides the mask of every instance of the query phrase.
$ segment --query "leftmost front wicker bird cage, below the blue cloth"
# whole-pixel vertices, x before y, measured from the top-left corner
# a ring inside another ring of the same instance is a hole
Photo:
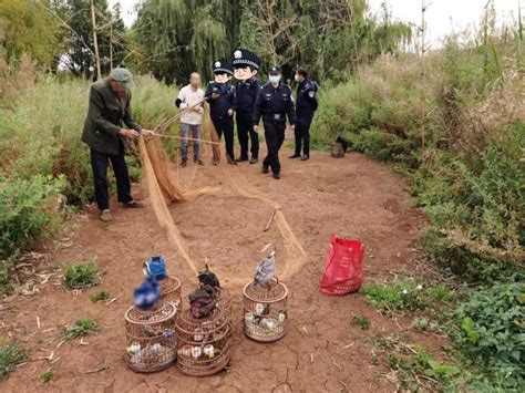
[[[125,360],[130,369],[142,373],[156,372],[175,361],[176,314],[175,307],[165,302],[152,310],[127,309]]]

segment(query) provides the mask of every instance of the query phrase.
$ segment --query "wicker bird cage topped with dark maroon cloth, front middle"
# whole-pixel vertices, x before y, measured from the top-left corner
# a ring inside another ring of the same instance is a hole
[[[207,376],[229,362],[230,325],[225,312],[215,308],[207,317],[196,319],[191,310],[177,318],[177,366],[183,374]]]

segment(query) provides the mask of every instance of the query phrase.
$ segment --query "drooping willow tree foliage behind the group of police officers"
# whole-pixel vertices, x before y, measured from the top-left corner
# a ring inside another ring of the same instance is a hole
[[[321,79],[341,80],[411,39],[411,27],[367,17],[366,0],[144,0],[133,37],[144,70],[168,83],[191,71],[212,77],[212,63],[237,46],[257,52],[285,73],[309,65]]]

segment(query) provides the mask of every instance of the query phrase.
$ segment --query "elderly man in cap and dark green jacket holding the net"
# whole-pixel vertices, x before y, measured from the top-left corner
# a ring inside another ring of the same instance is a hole
[[[85,117],[82,142],[91,149],[91,167],[95,185],[95,198],[102,221],[113,219],[107,192],[107,165],[111,162],[116,178],[119,201],[124,207],[141,207],[131,196],[130,176],[124,154],[128,141],[141,135],[152,136],[133,120],[130,101],[133,76],[126,69],[114,69],[110,77],[93,83],[90,106]],[[123,128],[122,125],[128,128]]]

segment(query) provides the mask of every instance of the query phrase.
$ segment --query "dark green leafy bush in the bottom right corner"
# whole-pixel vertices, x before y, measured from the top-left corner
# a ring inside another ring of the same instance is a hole
[[[486,379],[506,389],[525,383],[525,285],[498,283],[473,290],[455,311],[451,332]]]

